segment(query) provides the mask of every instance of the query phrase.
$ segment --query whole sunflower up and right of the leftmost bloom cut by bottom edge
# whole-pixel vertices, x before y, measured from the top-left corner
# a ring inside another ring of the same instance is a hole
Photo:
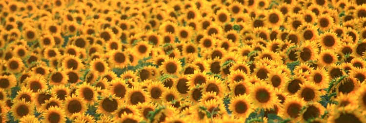
[[[67,117],[74,117],[76,114],[82,114],[86,111],[86,103],[81,97],[75,95],[66,97],[63,105]]]

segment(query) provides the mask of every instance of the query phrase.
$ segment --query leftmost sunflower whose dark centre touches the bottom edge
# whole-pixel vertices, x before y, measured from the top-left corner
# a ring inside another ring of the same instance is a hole
[[[66,122],[66,114],[61,107],[51,106],[43,112],[44,123],[64,123]]]

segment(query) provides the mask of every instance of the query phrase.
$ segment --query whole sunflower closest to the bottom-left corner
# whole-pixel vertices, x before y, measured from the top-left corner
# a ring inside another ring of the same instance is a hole
[[[12,112],[12,116],[19,120],[20,118],[28,115],[28,114],[33,114],[34,112],[34,105],[31,104],[31,102],[25,102],[25,100],[20,100],[20,101],[16,101],[14,102],[14,105],[11,106],[11,112]]]

